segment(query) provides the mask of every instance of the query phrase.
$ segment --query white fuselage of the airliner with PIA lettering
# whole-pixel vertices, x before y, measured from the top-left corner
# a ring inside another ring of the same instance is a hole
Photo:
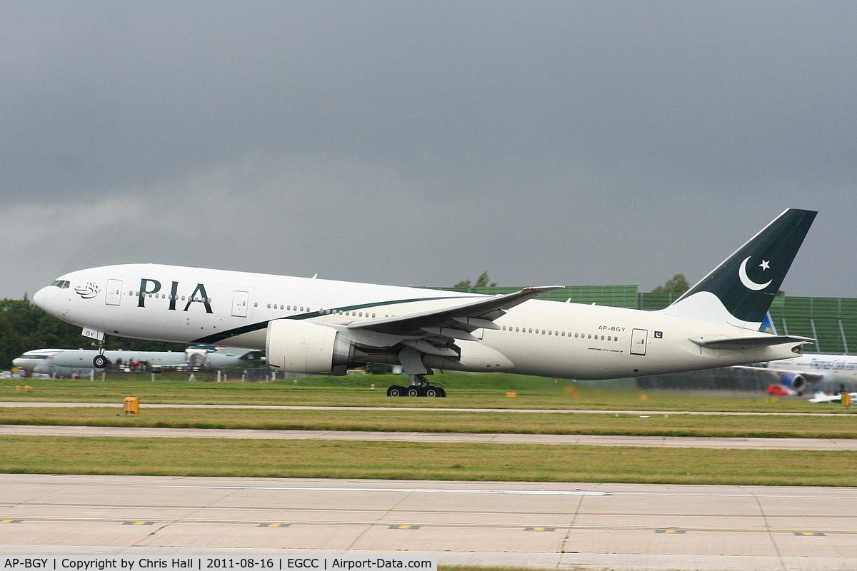
[[[171,265],[111,265],[71,272],[34,300],[45,311],[107,335],[183,343],[266,347],[273,320],[348,324],[428,312],[486,297],[423,288],[218,271]],[[799,343],[724,350],[691,339],[746,336],[725,324],[608,306],[526,300],[457,342],[428,367],[556,378],[625,378],[706,369],[800,354]],[[382,344],[381,344],[382,345]],[[383,350],[366,360],[394,362]]]

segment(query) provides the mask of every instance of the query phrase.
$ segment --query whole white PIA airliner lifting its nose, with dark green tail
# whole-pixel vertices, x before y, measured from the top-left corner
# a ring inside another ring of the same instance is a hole
[[[626,378],[800,354],[806,337],[758,331],[815,218],[790,209],[658,312],[504,295],[349,283],[172,265],[73,271],[33,301],[105,335],[265,348],[268,366],[345,374],[403,367],[390,396],[443,396],[432,369],[554,378]],[[104,365],[103,355],[96,365]]]

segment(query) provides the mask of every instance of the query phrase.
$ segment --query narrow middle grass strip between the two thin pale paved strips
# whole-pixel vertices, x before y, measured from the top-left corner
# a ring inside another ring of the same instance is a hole
[[[857,438],[857,415],[729,416],[682,413],[498,413],[445,410],[268,410],[0,407],[0,424],[324,431]]]

